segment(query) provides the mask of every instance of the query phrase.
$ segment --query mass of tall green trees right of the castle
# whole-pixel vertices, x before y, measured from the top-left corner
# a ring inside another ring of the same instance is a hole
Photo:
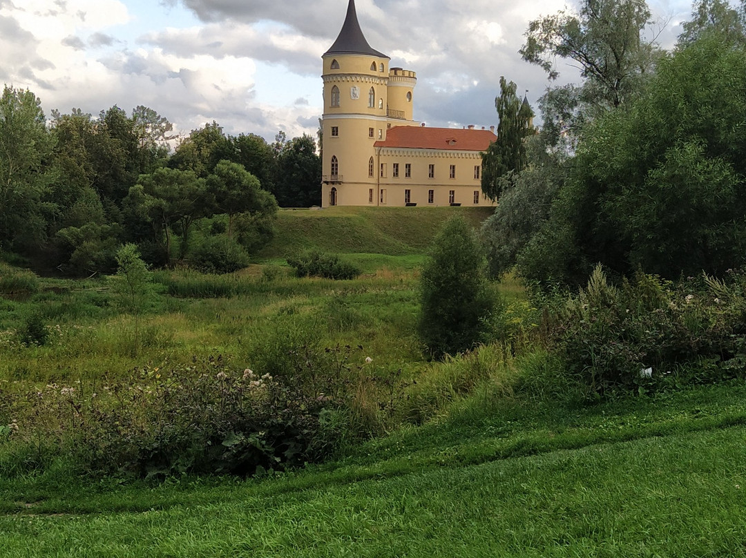
[[[530,22],[524,60],[582,81],[548,87],[540,131],[501,82],[483,156],[493,275],[579,286],[598,263],[668,279],[746,263],[746,1],[696,1],[671,51],[650,20],[644,0],[583,0]]]

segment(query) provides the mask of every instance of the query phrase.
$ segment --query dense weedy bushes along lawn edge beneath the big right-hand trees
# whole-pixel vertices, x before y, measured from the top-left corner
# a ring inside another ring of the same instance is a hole
[[[614,286],[598,266],[568,299],[554,336],[565,369],[598,397],[743,376],[745,316],[743,273],[672,283],[638,272]],[[701,373],[678,377],[692,366]]]

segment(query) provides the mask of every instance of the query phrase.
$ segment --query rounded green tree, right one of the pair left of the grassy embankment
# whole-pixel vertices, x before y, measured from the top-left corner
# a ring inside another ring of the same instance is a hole
[[[233,218],[239,213],[277,213],[275,196],[261,189],[257,177],[238,163],[220,161],[207,177],[207,192],[214,212],[228,215],[229,237],[233,234]]]

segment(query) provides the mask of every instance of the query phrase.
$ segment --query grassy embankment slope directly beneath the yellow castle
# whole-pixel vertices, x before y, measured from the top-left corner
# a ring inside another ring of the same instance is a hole
[[[448,217],[458,213],[478,228],[492,207],[331,207],[280,210],[275,239],[260,257],[303,249],[362,254],[423,254]]]

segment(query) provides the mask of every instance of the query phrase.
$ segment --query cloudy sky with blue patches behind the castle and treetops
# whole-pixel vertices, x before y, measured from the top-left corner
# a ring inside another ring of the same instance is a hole
[[[650,1],[670,48],[689,0]],[[47,116],[144,105],[179,134],[218,122],[269,141],[316,134],[321,56],[348,0],[0,0],[0,84],[33,91]],[[521,60],[528,22],[565,0],[357,0],[370,45],[417,72],[415,119],[428,126],[497,124],[500,76],[529,101],[548,86]],[[572,4],[569,4],[572,7]],[[577,70],[560,66],[560,82]]]

